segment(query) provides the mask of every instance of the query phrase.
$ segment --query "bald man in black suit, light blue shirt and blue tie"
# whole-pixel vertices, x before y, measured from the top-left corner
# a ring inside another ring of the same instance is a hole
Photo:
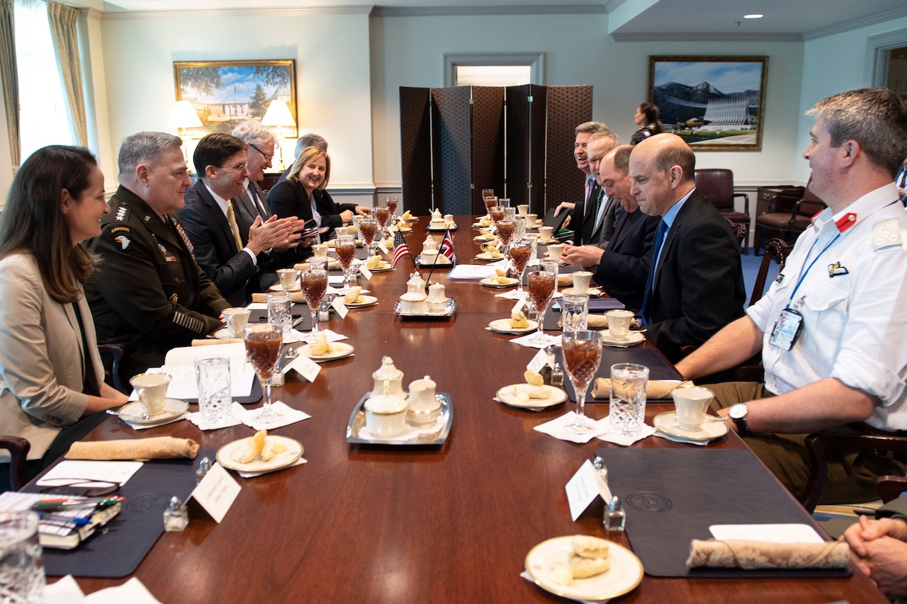
[[[662,217],[642,307],[646,336],[672,362],[743,315],[740,254],[727,219],[693,180],[696,156],[674,134],[633,148],[630,193],[639,209]],[[659,245],[660,243],[660,245]]]

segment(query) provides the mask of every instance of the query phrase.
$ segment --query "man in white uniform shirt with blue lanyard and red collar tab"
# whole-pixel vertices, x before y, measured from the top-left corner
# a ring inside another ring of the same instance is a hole
[[[784,271],[746,317],[678,363],[687,378],[739,365],[762,350],[765,384],[709,386],[718,413],[791,492],[808,476],[805,434],[907,430],[907,213],[894,175],[907,156],[907,105],[889,90],[836,94],[804,152],[828,208],[797,239]],[[640,143],[641,145],[642,143]],[[874,479],[901,463],[847,451],[828,464],[822,502],[876,499]]]

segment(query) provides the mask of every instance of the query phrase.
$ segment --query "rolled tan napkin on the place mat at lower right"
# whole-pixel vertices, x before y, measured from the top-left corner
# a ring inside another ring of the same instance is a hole
[[[728,539],[689,544],[687,568],[713,569],[845,569],[850,548],[840,541],[825,543],[770,543]]]

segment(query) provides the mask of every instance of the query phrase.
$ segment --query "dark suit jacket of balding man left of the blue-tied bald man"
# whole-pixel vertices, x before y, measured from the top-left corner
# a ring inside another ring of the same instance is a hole
[[[646,281],[652,265],[652,247],[660,216],[647,216],[640,209],[618,211],[614,236],[601,255],[595,280],[610,297],[616,297],[635,313],[642,307]]]

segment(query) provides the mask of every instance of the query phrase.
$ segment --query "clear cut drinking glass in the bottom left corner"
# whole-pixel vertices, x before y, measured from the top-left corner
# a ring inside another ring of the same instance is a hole
[[[44,565],[34,511],[0,513],[0,602],[44,602]]]

